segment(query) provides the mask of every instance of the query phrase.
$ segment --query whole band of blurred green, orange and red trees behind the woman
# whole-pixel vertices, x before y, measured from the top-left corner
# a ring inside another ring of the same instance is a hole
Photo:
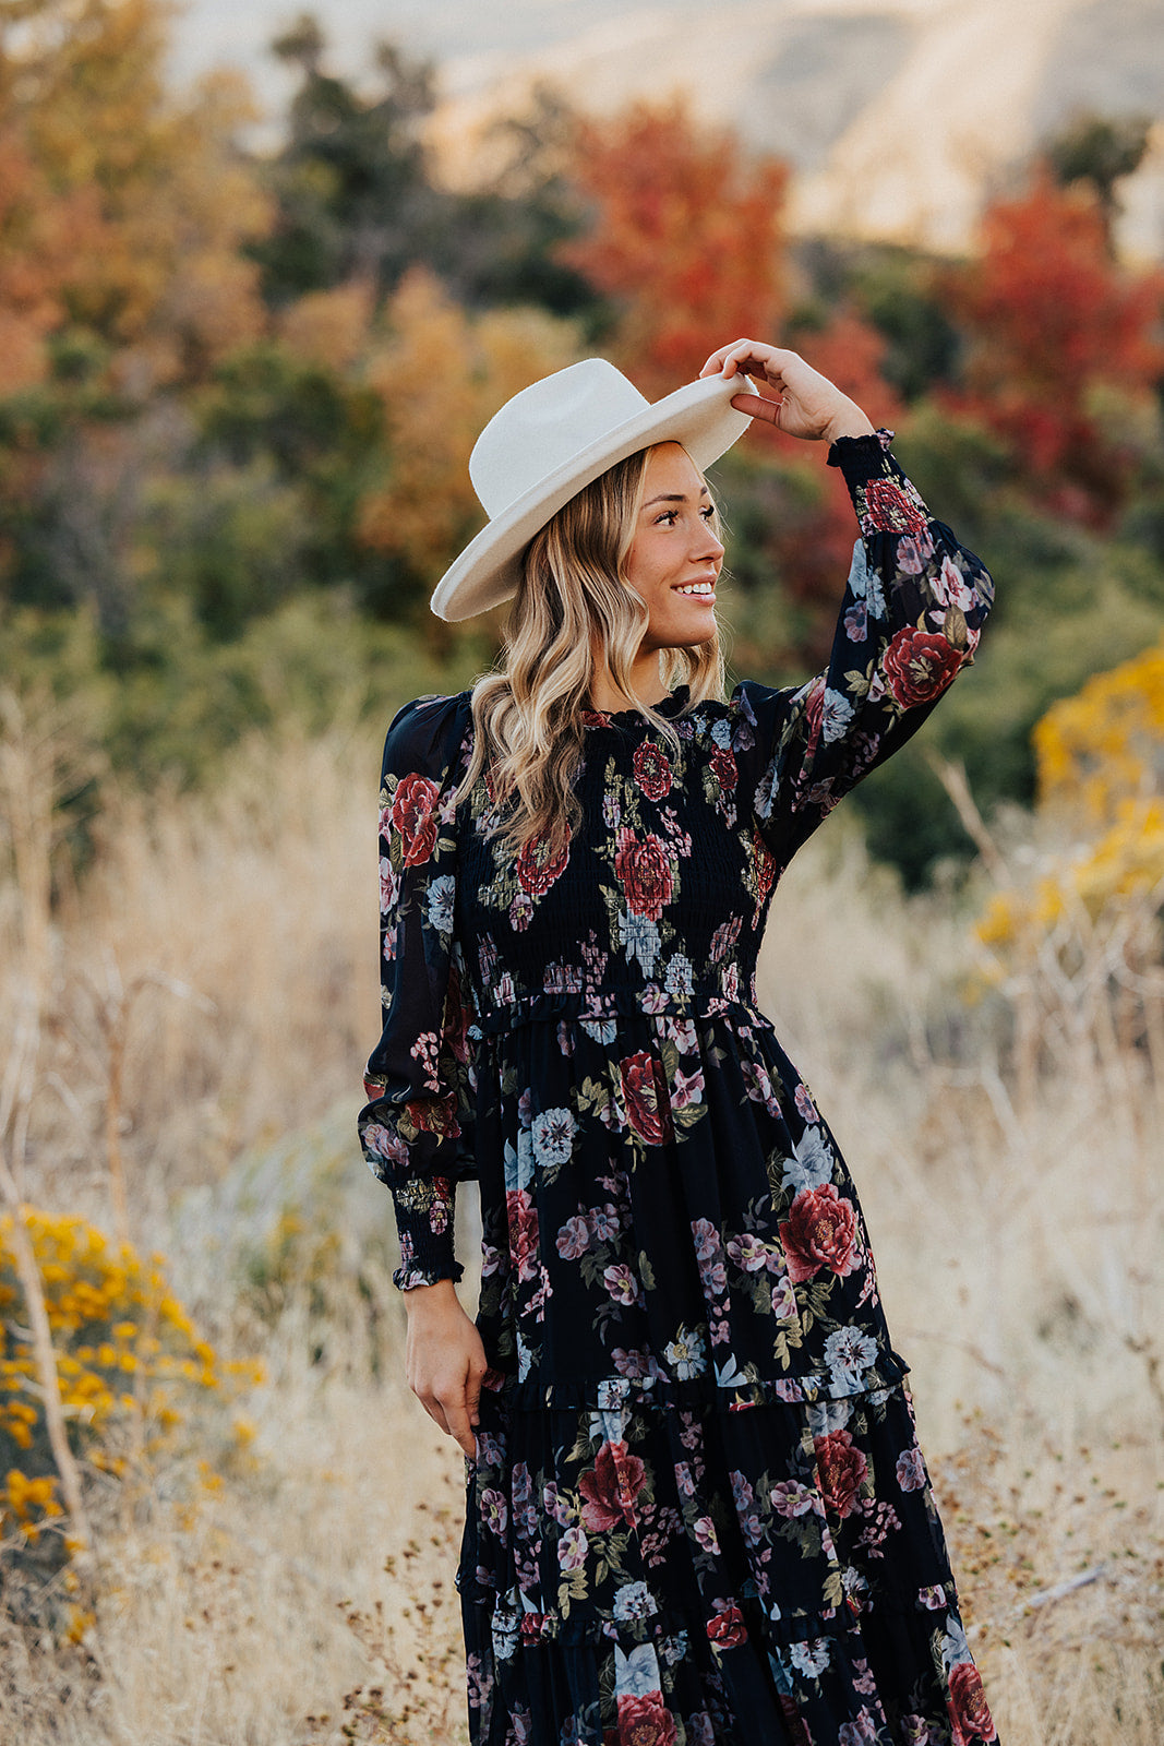
[[[515,389],[604,351],[656,396],[738,332],[801,349],[897,431],[1000,606],[976,672],[857,798],[909,887],[979,805],[1035,798],[1031,730],[1164,627],[1164,274],[1115,258],[1147,127],[1082,117],[989,204],[970,258],[798,241],[785,164],[679,100],[595,120],[553,91],[450,189],[433,68],[356,86],[302,16],[281,145],[246,87],[162,75],[157,0],[0,23],[0,634],[108,768],[204,782],[251,726],[386,716],[489,667],[503,609],[428,595],[482,522],[466,459]],[[853,538],[822,456],[749,433],[717,468],[731,679],[825,653]]]

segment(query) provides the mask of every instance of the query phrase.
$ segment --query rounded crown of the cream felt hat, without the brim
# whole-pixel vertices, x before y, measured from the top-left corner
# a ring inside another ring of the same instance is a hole
[[[531,382],[492,416],[469,456],[482,508],[497,517],[543,478],[644,412],[649,402],[606,358]]]

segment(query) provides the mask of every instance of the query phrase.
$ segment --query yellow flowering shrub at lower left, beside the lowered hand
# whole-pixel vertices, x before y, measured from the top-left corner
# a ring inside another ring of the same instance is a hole
[[[84,1219],[23,1208],[52,1330],[70,1442],[89,1467],[124,1477],[154,1465],[183,1425],[260,1379],[199,1337],[168,1287],[164,1259],[143,1261]],[[248,1440],[246,1421],[241,1442]],[[0,1217],[0,1543],[35,1545],[59,1514],[12,1217]]]

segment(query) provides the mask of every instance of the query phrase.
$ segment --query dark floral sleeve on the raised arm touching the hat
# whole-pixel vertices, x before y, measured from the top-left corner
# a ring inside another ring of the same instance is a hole
[[[743,793],[780,866],[918,732],[974,658],[993,604],[981,559],[930,515],[890,442],[876,431],[829,449],[860,529],[829,665],[796,690],[743,679],[731,695]]]

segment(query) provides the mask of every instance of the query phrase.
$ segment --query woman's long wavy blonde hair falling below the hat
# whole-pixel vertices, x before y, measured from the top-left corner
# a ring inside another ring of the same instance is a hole
[[[510,810],[501,842],[515,856],[539,838],[555,859],[581,824],[574,782],[586,735],[581,711],[593,707],[595,650],[620,691],[679,749],[674,725],[630,683],[651,615],[625,566],[651,454],[639,449],[600,473],[534,534],[503,629],[504,667],[473,686],[473,756],[454,798],[464,800],[487,770],[497,817]],[[714,526],[719,533],[717,512]],[[667,688],[691,688],[688,709],[722,698],[719,630],[695,648],[660,653]]]

